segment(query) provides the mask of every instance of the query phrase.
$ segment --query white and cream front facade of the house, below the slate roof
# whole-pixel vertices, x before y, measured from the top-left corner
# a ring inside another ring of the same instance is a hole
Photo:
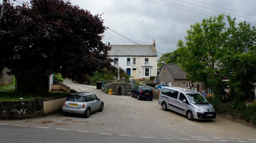
[[[118,58],[117,65],[115,65],[114,62],[112,63],[112,65],[114,65],[116,68],[122,68],[125,69],[125,71],[127,71],[127,68],[130,68],[131,77],[133,77],[134,79],[149,78],[149,76],[157,76],[156,56],[110,56],[110,58]],[[130,65],[127,65],[127,58],[130,58]]]

